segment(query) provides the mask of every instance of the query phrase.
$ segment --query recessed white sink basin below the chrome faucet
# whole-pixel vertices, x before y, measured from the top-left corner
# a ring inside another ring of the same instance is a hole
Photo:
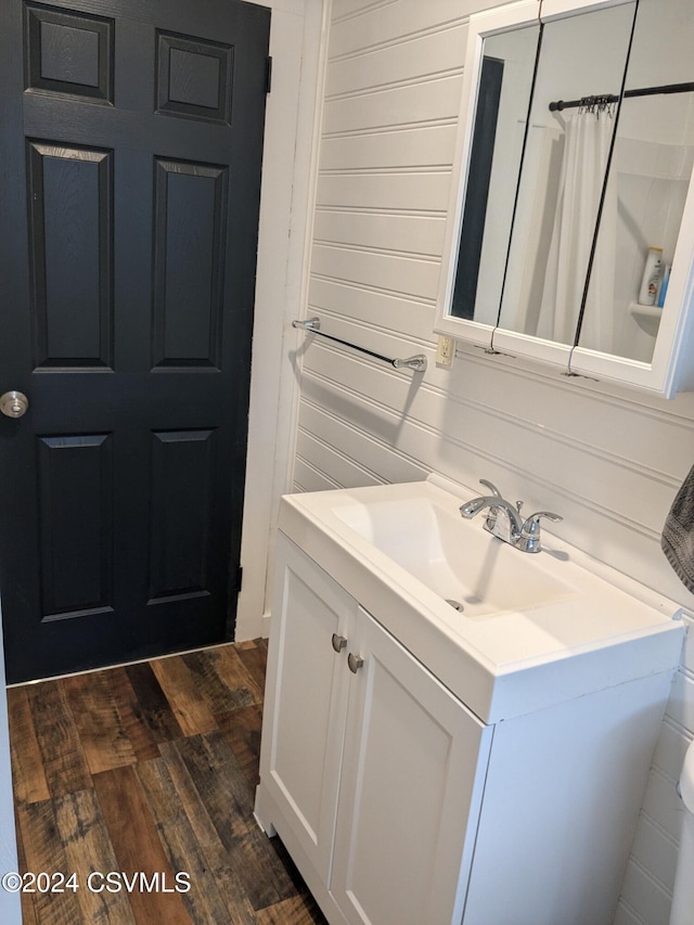
[[[338,505],[335,516],[470,618],[527,611],[573,589],[523,553],[427,498]]]

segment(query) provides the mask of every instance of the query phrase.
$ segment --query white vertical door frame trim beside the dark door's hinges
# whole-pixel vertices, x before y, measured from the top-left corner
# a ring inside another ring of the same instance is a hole
[[[331,0],[255,0],[270,7],[272,89],[260,195],[248,448],[236,640],[269,633],[280,497],[290,490],[300,334],[307,300],[321,101]]]

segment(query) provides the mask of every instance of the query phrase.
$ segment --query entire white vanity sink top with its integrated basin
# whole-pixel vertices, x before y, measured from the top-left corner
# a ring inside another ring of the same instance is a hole
[[[484,722],[677,664],[677,604],[549,531],[514,549],[435,479],[285,496],[279,526]]]

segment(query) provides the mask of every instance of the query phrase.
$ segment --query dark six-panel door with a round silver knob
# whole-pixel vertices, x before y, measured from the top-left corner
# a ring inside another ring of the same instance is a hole
[[[269,11],[0,7],[11,681],[232,638]]]

